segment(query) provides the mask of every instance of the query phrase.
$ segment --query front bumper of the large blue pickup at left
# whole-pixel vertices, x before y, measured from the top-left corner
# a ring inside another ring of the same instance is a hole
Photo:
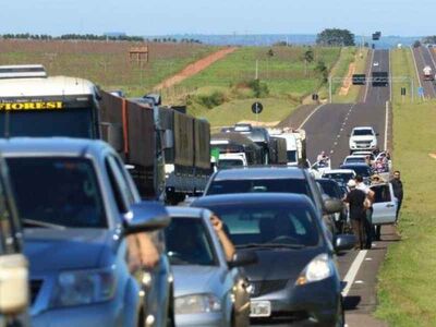
[[[120,303],[122,304],[122,303]],[[124,310],[116,301],[68,308],[52,308],[32,316],[34,327],[95,327],[125,325]],[[125,311],[125,314],[132,311]],[[134,320],[130,318],[128,320]],[[133,325],[133,324],[132,324]],[[132,326],[133,327],[133,326]]]

